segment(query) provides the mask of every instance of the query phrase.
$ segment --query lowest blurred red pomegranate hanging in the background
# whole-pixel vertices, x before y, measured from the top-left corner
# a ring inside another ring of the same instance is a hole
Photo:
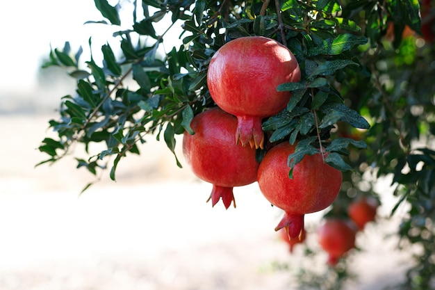
[[[328,264],[335,265],[338,259],[355,247],[355,230],[345,220],[329,218],[318,228],[318,241],[325,250]]]

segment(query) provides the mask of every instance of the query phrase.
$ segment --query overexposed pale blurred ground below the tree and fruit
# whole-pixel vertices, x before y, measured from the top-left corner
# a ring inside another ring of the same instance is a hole
[[[79,196],[93,177],[76,170],[72,156],[34,168],[46,158],[37,148],[50,118],[0,115],[1,290],[284,290],[297,289],[299,266],[325,268],[326,256],[288,253],[273,231],[281,212],[256,184],[234,190],[237,209],[212,209],[211,185],[177,168],[164,143],[150,140],[152,154],[121,161],[117,182],[105,172]],[[383,289],[403,278],[409,257],[386,236],[396,226],[383,221],[358,236],[363,253],[349,258],[358,277],[347,289]],[[308,243],[315,247],[315,237]],[[284,264],[289,269],[278,271]]]

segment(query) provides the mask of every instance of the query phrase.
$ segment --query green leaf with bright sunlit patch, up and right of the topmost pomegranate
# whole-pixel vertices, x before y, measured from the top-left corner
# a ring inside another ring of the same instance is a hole
[[[336,56],[352,49],[356,45],[365,45],[366,43],[367,39],[363,36],[343,33],[337,35],[335,39],[328,38],[327,40],[323,40],[317,47],[311,47],[308,51],[308,55],[317,56],[319,54],[327,54]]]

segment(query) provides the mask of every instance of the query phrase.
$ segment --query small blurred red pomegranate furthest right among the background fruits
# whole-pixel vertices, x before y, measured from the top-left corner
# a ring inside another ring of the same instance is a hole
[[[361,198],[349,205],[347,215],[358,229],[363,230],[367,223],[375,220],[377,207],[375,198]]]

